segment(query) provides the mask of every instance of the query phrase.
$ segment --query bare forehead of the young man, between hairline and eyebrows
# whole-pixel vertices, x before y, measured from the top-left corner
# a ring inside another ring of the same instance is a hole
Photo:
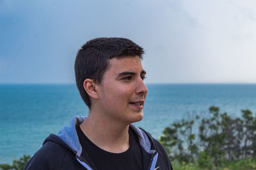
[[[141,59],[139,56],[127,56],[121,57],[119,59],[113,58],[109,60],[108,71],[114,72],[116,74],[122,71],[141,72],[142,70],[143,66],[141,64]]]

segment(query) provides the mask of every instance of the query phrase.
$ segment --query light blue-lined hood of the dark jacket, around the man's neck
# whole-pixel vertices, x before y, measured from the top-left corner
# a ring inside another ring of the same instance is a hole
[[[54,143],[58,143],[59,145],[67,148],[68,150],[71,150],[76,154],[77,161],[86,169],[93,170],[96,168],[92,164],[90,164],[90,158],[83,158],[81,157],[82,153],[82,146],[79,142],[79,138],[76,132],[76,126],[81,124],[84,120],[86,120],[86,117],[73,117],[70,124],[68,126],[63,127],[58,135],[51,134],[49,137],[47,137],[43,143],[43,145],[47,141],[52,141]],[[158,153],[156,152],[156,146],[154,143],[154,139],[152,136],[144,131],[143,129],[140,129],[136,127],[134,124],[130,124],[130,128],[136,133],[138,136],[139,144],[141,148],[143,148],[143,155],[144,158],[148,157],[149,162],[147,159],[143,159],[143,164],[148,165],[147,169],[154,170],[154,167],[156,167],[157,157]],[[145,155],[145,154],[146,155]]]

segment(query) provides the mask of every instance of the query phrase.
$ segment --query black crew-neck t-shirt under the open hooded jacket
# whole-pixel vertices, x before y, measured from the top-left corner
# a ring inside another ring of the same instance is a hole
[[[100,149],[84,135],[79,126],[77,126],[76,129],[79,141],[83,148],[81,156],[86,157],[85,154],[87,153],[97,169],[143,169],[138,137],[131,129],[129,129],[129,149],[122,153],[111,153]]]

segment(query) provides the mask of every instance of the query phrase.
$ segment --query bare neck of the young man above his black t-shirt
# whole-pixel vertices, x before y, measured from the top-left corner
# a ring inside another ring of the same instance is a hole
[[[115,122],[104,114],[90,111],[80,127],[86,137],[102,150],[122,153],[129,148],[129,124]]]

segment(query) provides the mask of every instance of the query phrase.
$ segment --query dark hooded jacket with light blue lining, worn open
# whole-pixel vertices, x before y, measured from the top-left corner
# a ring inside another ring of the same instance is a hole
[[[97,169],[90,157],[81,157],[82,146],[76,132],[76,125],[86,117],[73,117],[70,125],[61,129],[58,135],[50,134],[38,152],[33,155],[24,169]],[[172,169],[172,164],[163,146],[152,136],[130,124],[136,133],[143,157],[143,167],[147,170]]]

